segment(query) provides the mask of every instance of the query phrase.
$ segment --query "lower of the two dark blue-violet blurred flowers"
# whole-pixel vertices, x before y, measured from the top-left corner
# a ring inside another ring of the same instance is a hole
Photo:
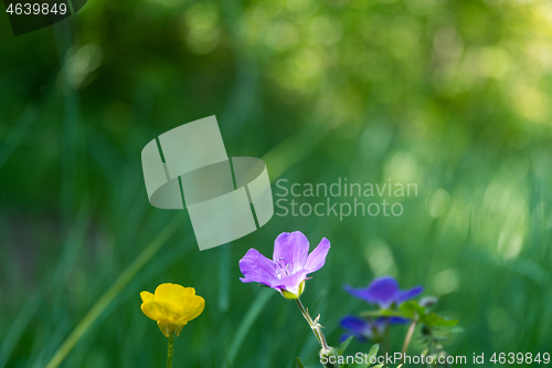
[[[354,336],[360,341],[365,341],[367,339],[379,341],[385,334],[388,325],[405,324],[407,322],[408,319],[400,317],[363,319],[355,316],[347,316],[340,322],[340,326],[348,330],[341,335],[341,343],[347,340],[349,336]]]

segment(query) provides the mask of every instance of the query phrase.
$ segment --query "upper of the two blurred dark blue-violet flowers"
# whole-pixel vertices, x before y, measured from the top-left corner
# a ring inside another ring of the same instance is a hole
[[[422,286],[402,291],[399,288],[396,280],[391,276],[378,277],[365,288],[353,288],[346,285],[344,290],[352,296],[375,304],[383,309],[388,309],[393,304],[399,305],[407,299],[412,299],[424,291]]]

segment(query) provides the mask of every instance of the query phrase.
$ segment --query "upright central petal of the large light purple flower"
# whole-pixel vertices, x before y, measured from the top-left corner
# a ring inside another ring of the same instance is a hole
[[[289,273],[304,270],[309,254],[309,241],[300,231],[283,232],[274,241],[273,260],[288,265]]]

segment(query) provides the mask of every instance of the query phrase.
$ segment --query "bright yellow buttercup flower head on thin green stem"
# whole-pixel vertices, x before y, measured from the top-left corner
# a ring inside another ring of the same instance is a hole
[[[177,333],[184,325],[198,317],[205,307],[205,301],[195,295],[193,287],[184,287],[178,284],[161,284],[157,286],[155,294],[140,293],[141,312],[149,318],[157,320],[157,325],[164,336]]]

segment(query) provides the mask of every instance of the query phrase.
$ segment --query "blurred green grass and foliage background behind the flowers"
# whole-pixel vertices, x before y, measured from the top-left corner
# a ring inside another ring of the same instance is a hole
[[[88,0],[18,38],[1,14],[0,35],[0,367],[164,366],[139,308],[162,282],[206,301],[176,367],[317,366],[295,303],[238,281],[247,249],[294,230],[332,244],[301,297],[330,344],[369,308],[342,285],[390,274],[459,318],[449,354],[552,353],[550,1]],[[148,203],[140,151],[210,115],[273,182],[418,196],[397,218],[275,215],[199,252],[185,211]]]

